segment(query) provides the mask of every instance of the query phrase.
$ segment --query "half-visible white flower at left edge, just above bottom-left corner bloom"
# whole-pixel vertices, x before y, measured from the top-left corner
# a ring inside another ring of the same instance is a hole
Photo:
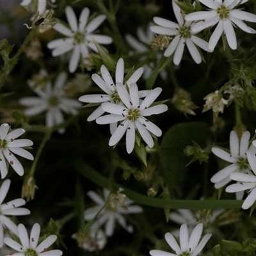
[[[26,201],[22,198],[17,198],[3,204],[4,198],[6,197],[10,188],[10,184],[11,180],[4,180],[0,188],[0,248],[2,248],[4,245],[4,228],[8,228],[16,236],[19,235],[17,225],[13,223],[10,218],[6,217],[6,215],[21,216],[30,214],[28,209],[19,208],[20,206],[26,204]]]

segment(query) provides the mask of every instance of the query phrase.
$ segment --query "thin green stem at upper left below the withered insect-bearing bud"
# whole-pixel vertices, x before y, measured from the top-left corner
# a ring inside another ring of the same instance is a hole
[[[10,72],[13,70],[13,68],[17,65],[19,61],[20,54],[24,51],[25,47],[28,45],[29,41],[33,36],[35,36],[36,28],[32,29],[26,39],[24,40],[23,44],[20,45],[19,50],[16,52],[16,54],[10,58],[7,62],[4,63],[4,67],[2,69],[2,72],[0,74],[0,89],[3,87],[4,82],[6,81],[6,78],[10,74]]]

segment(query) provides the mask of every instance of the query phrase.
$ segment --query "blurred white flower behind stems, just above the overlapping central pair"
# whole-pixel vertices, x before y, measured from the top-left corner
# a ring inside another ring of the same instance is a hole
[[[147,61],[147,52],[148,49],[150,47],[150,42],[154,39],[154,33],[152,33],[152,31],[150,31],[150,28],[148,27],[146,31],[143,30],[143,28],[139,27],[137,29],[137,36],[138,39],[134,38],[132,35],[127,34],[125,35],[125,39],[127,41],[127,43],[129,45],[131,45],[131,47],[139,53],[145,53],[145,55],[141,56],[140,61]],[[146,46],[147,45],[147,46]],[[131,55],[134,54],[134,52],[131,52]],[[151,53],[150,53],[151,54]],[[159,60],[161,58],[162,54],[156,53],[156,58],[157,60]],[[144,68],[144,72],[143,72],[143,79],[147,80],[148,77],[150,77],[150,75],[152,74],[153,70],[154,70],[154,63],[150,62],[147,63],[145,65],[142,66]],[[167,72],[166,70],[162,69],[159,72],[159,75],[161,76],[161,78],[164,80],[167,77]]]

